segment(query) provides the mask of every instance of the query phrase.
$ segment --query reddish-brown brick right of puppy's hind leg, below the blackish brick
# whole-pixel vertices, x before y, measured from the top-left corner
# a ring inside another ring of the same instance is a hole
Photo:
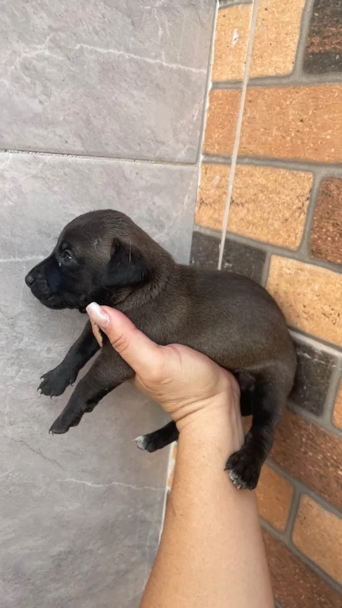
[[[290,475],[342,510],[342,440],[286,410],[271,454]]]

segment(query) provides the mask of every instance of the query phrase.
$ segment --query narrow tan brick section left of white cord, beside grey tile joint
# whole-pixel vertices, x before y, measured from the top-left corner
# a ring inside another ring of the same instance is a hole
[[[222,229],[227,202],[229,167],[202,164],[197,196],[195,223],[217,230]]]

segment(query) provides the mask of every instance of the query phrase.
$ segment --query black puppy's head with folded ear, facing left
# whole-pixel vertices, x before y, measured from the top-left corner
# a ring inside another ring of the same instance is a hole
[[[73,219],[49,257],[25,281],[48,308],[84,308],[108,291],[137,288],[151,280],[166,252],[124,213],[101,210]],[[106,303],[106,302],[99,302]]]

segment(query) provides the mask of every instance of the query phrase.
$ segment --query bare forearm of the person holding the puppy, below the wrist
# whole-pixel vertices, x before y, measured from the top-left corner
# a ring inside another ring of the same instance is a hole
[[[227,430],[227,447],[222,433]],[[180,432],[173,488],[141,608],[273,608],[254,492],[224,471],[230,429]],[[220,437],[219,437],[220,435]]]

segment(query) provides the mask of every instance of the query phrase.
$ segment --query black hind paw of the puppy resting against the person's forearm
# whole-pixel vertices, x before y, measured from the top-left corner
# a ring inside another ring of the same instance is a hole
[[[228,471],[231,481],[238,489],[253,490],[259,480],[261,463],[245,446],[228,458],[225,471]]]

